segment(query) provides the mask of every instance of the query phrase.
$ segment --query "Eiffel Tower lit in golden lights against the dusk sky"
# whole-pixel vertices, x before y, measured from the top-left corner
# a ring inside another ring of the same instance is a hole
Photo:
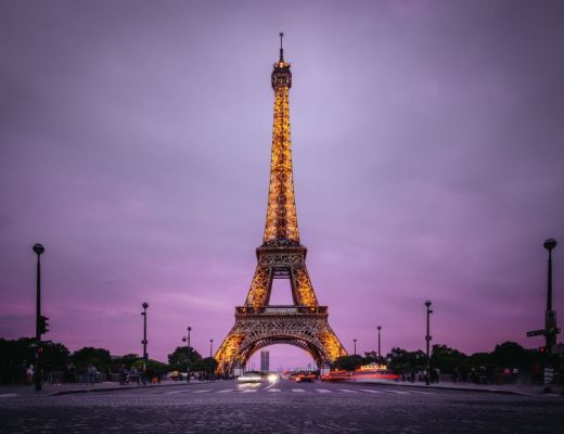
[[[321,367],[347,353],[329,326],[328,307],[320,306],[306,268],[307,248],[299,242],[290,141],[290,63],[273,65],[274,122],[270,161],[270,188],[262,245],[257,268],[243,306],[235,307],[235,324],[215,354],[218,372],[245,366],[258,349],[272,344],[303,348]],[[294,304],[270,305],[273,279],[289,279]]]

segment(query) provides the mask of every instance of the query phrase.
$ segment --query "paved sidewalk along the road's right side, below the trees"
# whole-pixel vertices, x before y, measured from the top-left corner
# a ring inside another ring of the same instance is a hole
[[[386,380],[362,380],[356,381],[358,384],[381,384],[386,386],[406,386],[406,387],[420,387],[420,388],[441,388],[446,391],[463,391],[463,392],[483,392],[483,393],[497,393],[505,395],[561,395],[562,386],[552,386],[550,394],[544,394],[544,387],[540,384],[474,384],[474,383],[453,383],[453,382],[440,382],[432,383],[428,386],[422,382],[410,383],[408,381],[386,381]]]

